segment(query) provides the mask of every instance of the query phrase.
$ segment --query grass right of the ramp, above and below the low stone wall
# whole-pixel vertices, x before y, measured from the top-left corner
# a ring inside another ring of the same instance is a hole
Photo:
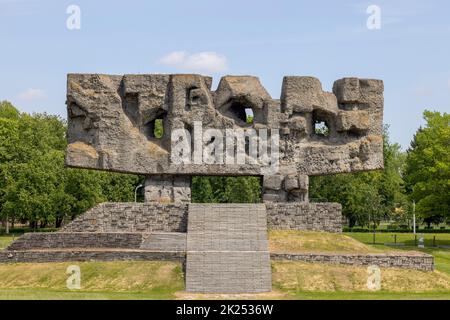
[[[296,232],[294,232],[296,233]],[[298,232],[297,232],[298,233]],[[277,247],[294,249],[294,251],[330,251],[333,248],[339,252],[386,252],[392,250],[420,251],[428,253],[435,258],[433,273],[418,272],[412,270],[382,270],[382,290],[379,292],[367,292],[361,287],[361,272],[364,268],[328,265],[302,265],[294,264],[281,274],[286,278],[279,278],[280,274],[273,274],[274,287],[282,292],[288,292],[295,299],[450,299],[450,290],[443,282],[450,279],[450,250],[430,247],[433,237],[436,236],[437,245],[450,244],[450,234],[425,234],[425,248],[414,246],[413,234],[397,234],[397,242],[403,242],[404,246],[385,245],[394,242],[394,234],[376,234],[376,244],[373,244],[373,235],[370,233],[345,233],[336,235],[334,241],[340,242],[333,245],[332,235],[320,236],[314,233],[298,233],[288,235],[285,231],[281,234],[271,231],[271,249]],[[282,244],[282,238],[285,237]],[[302,240],[296,241],[295,237]],[[345,238],[344,238],[345,237]],[[314,240],[313,238],[317,238]],[[355,240],[349,241],[346,238]],[[292,241],[293,243],[290,243]],[[278,246],[277,246],[278,245]],[[298,246],[298,248],[296,247]],[[280,267],[280,266],[278,266]],[[295,275],[294,277],[291,277]],[[436,276],[432,278],[431,275]],[[312,279],[312,280],[311,280]],[[309,283],[309,287],[308,287]],[[428,283],[431,286],[427,287]]]

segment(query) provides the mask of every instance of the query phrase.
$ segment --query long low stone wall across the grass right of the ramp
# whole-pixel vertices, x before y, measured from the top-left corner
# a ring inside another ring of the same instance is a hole
[[[335,263],[354,266],[376,265],[380,268],[434,270],[434,258],[423,253],[335,254],[335,253],[271,253],[273,260],[293,260],[313,263]]]

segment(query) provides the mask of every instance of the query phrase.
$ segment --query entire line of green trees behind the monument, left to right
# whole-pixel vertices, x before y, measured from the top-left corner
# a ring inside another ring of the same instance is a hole
[[[384,130],[384,169],[311,177],[312,201],[339,202],[350,226],[410,221],[413,201],[427,224],[450,218],[450,115],[424,112],[426,125],[403,152]],[[2,225],[60,227],[105,201],[134,201],[143,177],[64,166],[67,124],[58,116],[19,112],[0,102]],[[193,177],[192,201],[261,201],[260,177]],[[142,198],[142,195],[141,195]]]

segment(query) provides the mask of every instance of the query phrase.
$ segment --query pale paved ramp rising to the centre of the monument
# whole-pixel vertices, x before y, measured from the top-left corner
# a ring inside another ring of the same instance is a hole
[[[271,291],[264,204],[190,204],[186,291]]]

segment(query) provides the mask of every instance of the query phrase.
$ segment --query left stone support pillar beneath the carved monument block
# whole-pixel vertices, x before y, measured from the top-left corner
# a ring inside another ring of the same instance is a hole
[[[190,203],[191,177],[184,175],[150,175],[145,178],[145,202]]]

